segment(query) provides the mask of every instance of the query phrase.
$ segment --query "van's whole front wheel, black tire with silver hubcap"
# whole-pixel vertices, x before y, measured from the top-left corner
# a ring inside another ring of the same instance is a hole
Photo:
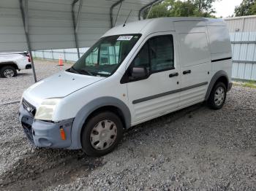
[[[113,112],[101,112],[83,125],[81,144],[86,155],[100,157],[113,151],[123,136],[123,124]]]

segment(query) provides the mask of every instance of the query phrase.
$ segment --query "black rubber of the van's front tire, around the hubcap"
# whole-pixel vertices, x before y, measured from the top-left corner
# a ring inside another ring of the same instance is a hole
[[[96,146],[93,147],[91,144],[91,140],[92,140],[91,133],[94,127],[96,127],[96,125],[102,120],[109,120],[113,122],[116,125],[117,133],[116,133],[115,140],[107,149],[99,150],[99,149],[95,149],[94,147]],[[83,125],[83,130],[81,133],[81,144],[82,144],[83,152],[86,152],[86,155],[89,155],[92,157],[100,157],[102,155],[107,155],[109,152],[113,151],[113,149],[115,149],[118,142],[121,141],[123,136],[123,128],[124,127],[120,118],[113,112],[100,112],[98,114],[95,114],[88,120],[88,122],[86,122]]]

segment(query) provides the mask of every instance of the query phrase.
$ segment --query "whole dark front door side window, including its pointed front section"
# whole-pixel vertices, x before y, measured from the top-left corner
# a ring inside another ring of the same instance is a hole
[[[133,67],[146,67],[149,73],[174,69],[173,36],[149,39],[133,61]]]

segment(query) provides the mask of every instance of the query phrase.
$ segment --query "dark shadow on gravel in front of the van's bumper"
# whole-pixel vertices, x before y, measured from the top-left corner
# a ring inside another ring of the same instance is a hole
[[[10,171],[0,176],[0,190],[44,190],[87,176],[102,164],[101,158],[86,156],[80,150],[32,149]]]

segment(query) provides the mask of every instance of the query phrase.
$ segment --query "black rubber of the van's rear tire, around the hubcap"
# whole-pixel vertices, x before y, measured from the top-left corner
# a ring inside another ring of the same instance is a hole
[[[221,104],[217,104],[216,103],[217,99],[215,99],[215,94],[217,93],[217,90],[219,90],[219,88],[224,91],[224,98],[222,99]],[[211,109],[221,109],[222,106],[225,104],[226,96],[227,96],[227,87],[225,86],[224,83],[217,82],[217,84],[214,85],[214,88],[211,90],[211,94],[208,98],[208,106],[210,106]]]

